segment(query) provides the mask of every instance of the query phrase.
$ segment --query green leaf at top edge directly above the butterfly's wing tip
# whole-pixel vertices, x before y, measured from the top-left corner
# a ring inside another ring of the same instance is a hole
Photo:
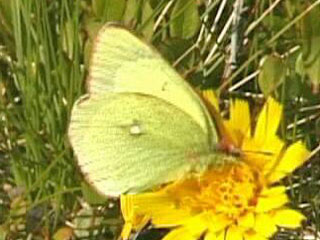
[[[120,21],[126,6],[125,0],[92,0],[92,9],[102,21]]]

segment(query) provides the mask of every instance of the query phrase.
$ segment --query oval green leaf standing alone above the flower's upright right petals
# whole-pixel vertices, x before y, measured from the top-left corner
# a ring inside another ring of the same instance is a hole
[[[272,93],[285,79],[286,66],[280,57],[269,55],[263,60],[258,84],[265,96]]]

